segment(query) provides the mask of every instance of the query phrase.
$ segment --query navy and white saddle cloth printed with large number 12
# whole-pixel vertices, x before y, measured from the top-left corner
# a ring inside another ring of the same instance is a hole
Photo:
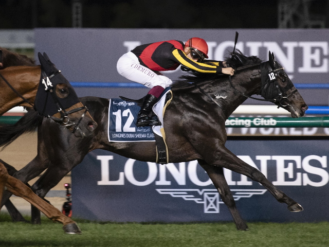
[[[161,126],[152,126],[153,131],[161,137],[161,132],[164,133],[163,114],[167,93],[171,93],[170,87],[162,93],[158,102],[153,107],[154,113],[158,116],[162,124]],[[109,142],[155,142],[151,126],[136,126],[139,110],[140,107],[136,102],[122,99],[109,100],[107,132]]]

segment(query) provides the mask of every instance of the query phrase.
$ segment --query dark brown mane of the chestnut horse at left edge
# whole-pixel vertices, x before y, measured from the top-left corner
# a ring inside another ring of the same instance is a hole
[[[2,50],[2,61],[0,62],[3,64],[0,69],[10,66],[35,66],[35,61],[32,58],[17,54],[2,47],[0,47],[0,50]]]

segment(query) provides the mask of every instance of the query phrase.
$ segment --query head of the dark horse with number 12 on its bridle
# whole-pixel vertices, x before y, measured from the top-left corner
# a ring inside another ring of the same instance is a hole
[[[265,63],[266,64],[266,63]],[[290,112],[291,117],[302,117],[308,109],[302,96],[291,82],[284,68],[275,60],[275,55],[268,52],[267,83],[262,87],[262,96],[272,95],[274,103]]]

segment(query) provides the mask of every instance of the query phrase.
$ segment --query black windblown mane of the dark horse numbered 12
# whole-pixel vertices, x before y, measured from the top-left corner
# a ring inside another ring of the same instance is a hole
[[[236,49],[235,52],[230,52],[231,57],[225,59],[226,64],[229,64],[230,67],[233,67],[235,70],[239,67],[244,67],[248,65],[260,64],[262,60],[256,56],[247,57],[242,54],[239,49]],[[212,64],[211,62],[205,62],[206,64]],[[188,75],[182,75],[173,83],[173,87],[184,87],[189,85],[191,82],[203,82],[205,80],[211,81],[216,78],[222,77],[223,74],[213,74],[213,73],[200,73],[195,70],[191,70]]]

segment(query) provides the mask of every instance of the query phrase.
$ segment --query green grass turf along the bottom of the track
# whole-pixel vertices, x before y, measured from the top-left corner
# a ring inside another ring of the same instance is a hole
[[[329,246],[329,223],[139,224],[77,220],[82,235],[67,235],[60,223],[13,223],[0,215],[0,246]]]

